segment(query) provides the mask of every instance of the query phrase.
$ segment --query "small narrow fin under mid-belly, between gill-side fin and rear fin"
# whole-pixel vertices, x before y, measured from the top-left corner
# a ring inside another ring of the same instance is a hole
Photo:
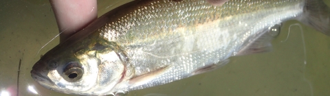
[[[201,73],[206,73],[208,71],[213,71],[214,69],[218,69],[220,67],[223,67],[225,64],[227,64],[229,62],[229,60],[223,60],[221,62],[217,62],[214,64],[210,64],[208,66],[205,67],[201,67],[199,69],[196,69],[195,71],[193,71],[190,76],[192,75],[197,75],[197,74],[201,74]]]

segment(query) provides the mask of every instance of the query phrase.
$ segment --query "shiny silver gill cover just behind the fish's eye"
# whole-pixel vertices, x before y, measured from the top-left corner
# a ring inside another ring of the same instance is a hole
[[[98,40],[89,45],[89,50],[80,50],[76,53],[80,62],[94,66],[94,59],[97,60],[98,77],[96,79],[97,87],[89,91],[93,93],[111,92],[116,84],[122,81],[126,72],[126,53],[121,51],[115,43]],[[89,58],[86,58],[89,57]],[[94,70],[94,69],[93,69]]]

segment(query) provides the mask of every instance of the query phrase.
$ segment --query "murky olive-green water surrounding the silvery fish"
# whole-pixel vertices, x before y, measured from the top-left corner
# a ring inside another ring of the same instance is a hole
[[[126,2],[98,1],[98,14]],[[229,64],[216,71],[130,91],[128,95],[330,95],[330,37],[302,25],[304,53],[298,26],[290,28],[287,38],[289,25],[294,23],[298,21],[283,25],[281,34],[272,43],[272,52],[232,57]],[[39,95],[65,95],[43,88],[30,76],[33,64],[41,54],[55,47],[59,39],[41,49],[38,55],[37,51],[56,34],[58,29],[49,1],[5,0],[0,3],[0,96],[17,95],[20,60],[19,95],[36,95],[32,89]]]

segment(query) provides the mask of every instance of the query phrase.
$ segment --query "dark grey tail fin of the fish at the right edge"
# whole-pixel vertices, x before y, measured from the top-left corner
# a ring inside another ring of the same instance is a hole
[[[330,36],[330,8],[322,0],[306,0],[300,21]]]

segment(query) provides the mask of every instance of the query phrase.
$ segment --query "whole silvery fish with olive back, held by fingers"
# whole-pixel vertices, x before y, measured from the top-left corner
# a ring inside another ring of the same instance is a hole
[[[215,3],[215,4],[214,4]],[[60,43],[34,64],[45,88],[113,95],[181,80],[231,56],[270,51],[270,27],[296,19],[330,36],[322,0],[137,0]]]

